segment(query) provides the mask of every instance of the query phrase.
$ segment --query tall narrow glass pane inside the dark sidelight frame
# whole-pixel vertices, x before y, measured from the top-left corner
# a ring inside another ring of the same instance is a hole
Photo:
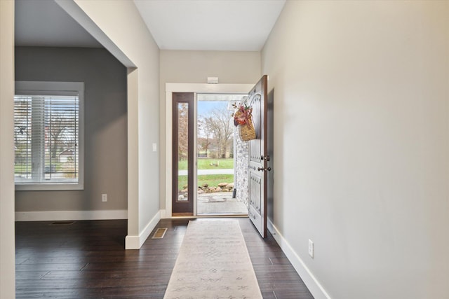
[[[177,103],[177,201],[189,200],[189,103]]]

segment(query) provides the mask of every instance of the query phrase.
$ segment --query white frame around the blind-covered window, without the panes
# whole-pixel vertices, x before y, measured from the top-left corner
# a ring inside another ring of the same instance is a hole
[[[77,93],[79,101],[78,182],[21,183],[14,180],[15,190],[84,190],[84,83],[15,81],[15,95],[67,95],[68,93]]]

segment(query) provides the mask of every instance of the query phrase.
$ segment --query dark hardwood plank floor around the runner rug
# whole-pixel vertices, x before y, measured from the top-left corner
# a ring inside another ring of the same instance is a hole
[[[239,220],[264,298],[313,298],[274,238]],[[199,219],[197,221],[209,221]],[[187,219],[163,219],[168,231],[140,250],[124,250],[126,221],[18,222],[16,298],[163,298]]]

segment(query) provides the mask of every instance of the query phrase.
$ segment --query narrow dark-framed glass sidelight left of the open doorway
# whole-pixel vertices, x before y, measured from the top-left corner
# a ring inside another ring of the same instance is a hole
[[[193,104],[193,92],[173,92],[173,213],[194,211]]]

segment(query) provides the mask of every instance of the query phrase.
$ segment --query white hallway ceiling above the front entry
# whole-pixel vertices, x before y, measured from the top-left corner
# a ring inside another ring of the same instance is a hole
[[[262,50],[285,0],[134,0],[164,50]]]

